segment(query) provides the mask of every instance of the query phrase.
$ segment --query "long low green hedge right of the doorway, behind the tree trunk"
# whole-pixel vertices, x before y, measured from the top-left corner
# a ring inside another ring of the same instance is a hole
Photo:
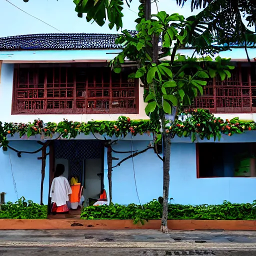
[[[168,219],[256,219],[253,203],[231,203],[223,201],[216,205],[183,205],[168,204]],[[84,207],[81,212],[82,219],[160,219],[162,205],[157,200],[137,205],[111,204]]]

